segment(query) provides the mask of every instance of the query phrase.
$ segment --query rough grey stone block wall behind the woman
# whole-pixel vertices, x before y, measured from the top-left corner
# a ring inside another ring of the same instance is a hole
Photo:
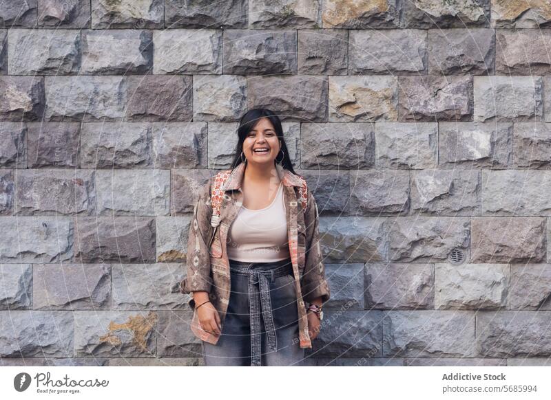
[[[545,1],[213,4],[1,2],[0,365],[202,364],[191,205],[255,106],[322,214],[310,364],[545,364]]]

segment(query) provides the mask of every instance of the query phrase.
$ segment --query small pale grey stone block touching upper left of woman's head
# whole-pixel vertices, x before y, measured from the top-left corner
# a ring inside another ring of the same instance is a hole
[[[239,120],[247,101],[244,76],[201,76],[194,79],[194,121]]]

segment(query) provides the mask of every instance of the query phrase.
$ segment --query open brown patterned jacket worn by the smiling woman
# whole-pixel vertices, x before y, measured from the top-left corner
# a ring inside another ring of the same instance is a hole
[[[311,302],[320,296],[322,302],[326,302],[330,296],[319,243],[318,205],[311,192],[307,190],[304,178],[291,173],[280,164],[276,164],[276,170],[283,184],[286,204],[289,253],[298,299],[300,348],[311,348],[304,303]],[[241,181],[244,172],[245,164],[239,164],[233,171],[221,171],[211,177],[201,188],[189,226],[187,276],[180,282],[181,293],[209,292],[209,299],[220,315],[222,329],[230,295],[227,234],[242,205]],[[213,189],[215,189],[212,193],[214,196],[222,197],[220,224],[217,227],[211,226],[211,191]],[[302,204],[306,204],[306,208],[302,208]],[[193,296],[188,304],[194,310],[191,331],[200,340],[216,344],[219,336],[203,331],[198,323]]]

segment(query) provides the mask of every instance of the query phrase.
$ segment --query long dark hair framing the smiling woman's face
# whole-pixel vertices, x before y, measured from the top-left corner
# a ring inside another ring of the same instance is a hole
[[[236,168],[236,166],[241,164],[241,152],[243,151],[243,142],[245,142],[245,138],[247,137],[247,135],[249,135],[249,132],[254,129],[254,126],[258,124],[260,118],[268,118],[270,120],[271,124],[273,125],[273,129],[275,129],[275,134],[278,135],[278,139],[281,140],[281,150],[283,151],[283,160],[281,162],[281,165],[283,166],[283,168],[295,174],[293,164],[291,163],[291,158],[289,158],[289,151],[287,151],[287,144],[285,144],[285,140],[283,137],[283,129],[281,127],[280,118],[269,109],[250,109],[242,115],[237,130],[237,135],[239,139],[236,145],[236,153],[233,156],[233,162],[231,163],[231,169]],[[275,158],[278,159],[279,157],[280,155],[278,154],[278,156]]]

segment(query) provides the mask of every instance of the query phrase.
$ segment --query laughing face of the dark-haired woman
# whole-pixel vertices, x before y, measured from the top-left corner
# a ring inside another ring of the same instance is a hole
[[[260,151],[260,149],[266,149],[266,151]],[[243,141],[243,153],[247,163],[273,165],[273,160],[278,157],[279,151],[280,142],[273,125],[268,118],[261,118]]]

